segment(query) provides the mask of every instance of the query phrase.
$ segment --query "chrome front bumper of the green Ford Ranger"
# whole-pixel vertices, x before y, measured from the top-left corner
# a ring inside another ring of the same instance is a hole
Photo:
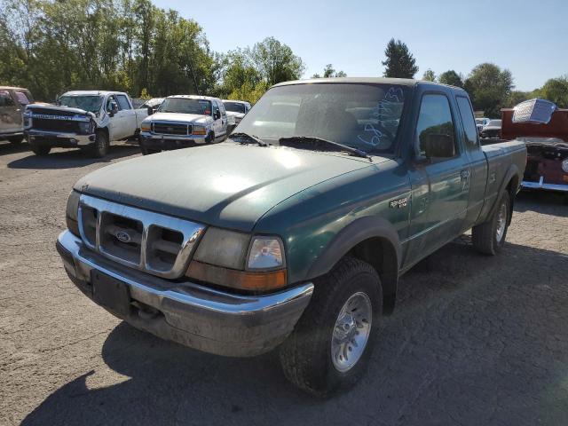
[[[59,234],[57,248],[69,278],[91,300],[93,271],[128,286],[130,312],[120,314],[103,305],[107,311],[164,339],[218,355],[248,357],[271,351],[294,329],[312,297],[312,283],[242,296],[189,280],[163,280],[109,261],[69,231]]]

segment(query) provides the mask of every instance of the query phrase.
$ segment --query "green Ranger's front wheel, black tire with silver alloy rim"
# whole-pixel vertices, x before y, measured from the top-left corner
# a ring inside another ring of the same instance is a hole
[[[280,364],[290,382],[325,397],[365,373],[383,290],[375,269],[353,257],[344,257],[316,281],[310,304],[280,346]]]

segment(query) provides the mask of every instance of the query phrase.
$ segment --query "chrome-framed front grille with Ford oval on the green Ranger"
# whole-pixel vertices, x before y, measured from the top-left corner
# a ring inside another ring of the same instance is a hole
[[[204,225],[81,195],[79,231],[87,247],[164,278],[186,270]]]

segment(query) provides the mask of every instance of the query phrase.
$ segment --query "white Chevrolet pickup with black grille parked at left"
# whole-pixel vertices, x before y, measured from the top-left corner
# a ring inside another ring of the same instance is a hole
[[[67,91],[57,106],[29,105],[24,133],[36,155],[52,147],[78,147],[103,157],[110,142],[137,136],[147,110],[134,109],[121,91]]]

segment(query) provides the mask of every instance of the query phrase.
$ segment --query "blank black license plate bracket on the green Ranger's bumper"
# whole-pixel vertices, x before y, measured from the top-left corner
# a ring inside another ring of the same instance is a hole
[[[96,270],[91,271],[91,283],[97,304],[123,316],[130,313],[130,291],[126,283]]]

